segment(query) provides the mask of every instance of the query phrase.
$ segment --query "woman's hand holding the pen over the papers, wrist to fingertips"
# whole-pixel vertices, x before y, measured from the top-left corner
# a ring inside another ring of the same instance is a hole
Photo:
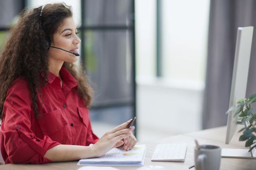
[[[123,145],[124,141],[122,139],[130,138],[129,136],[133,136],[131,131],[133,131],[135,129],[135,127],[132,126],[130,128],[126,128],[126,126],[129,124],[129,122],[131,120],[132,119],[126,121],[123,124],[118,125],[113,130],[105,133],[98,140],[98,142],[93,145],[93,147],[95,149],[95,152],[96,152],[96,155],[98,157],[104,155],[105,153],[107,153],[112,148],[116,148],[116,147],[119,147],[119,146]],[[131,144],[133,144],[134,143],[134,138],[135,137],[131,137],[130,138],[131,140],[127,140],[127,141],[133,141],[131,143]],[[129,146],[132,146],[132,145],[129,144]]]

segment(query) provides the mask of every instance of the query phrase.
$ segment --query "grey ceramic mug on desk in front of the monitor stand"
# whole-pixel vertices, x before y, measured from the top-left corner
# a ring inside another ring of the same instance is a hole
[[[195,147],[196,170],[219,170],[221,148],[215,145]]]

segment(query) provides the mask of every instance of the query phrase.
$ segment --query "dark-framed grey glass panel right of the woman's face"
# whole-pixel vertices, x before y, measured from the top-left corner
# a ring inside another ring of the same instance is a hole
[[[134,0],[84,0],[84,66],[95,83],[91,119],[120,124],[135,116]]]

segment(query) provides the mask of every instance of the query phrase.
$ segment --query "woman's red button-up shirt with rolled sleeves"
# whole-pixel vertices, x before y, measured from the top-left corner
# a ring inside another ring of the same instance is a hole
[[[39,114],[36,118],[28,84],[18,78],[9,87],[3,105],[0,147],[5,163],[50,162],[44,154],[59,145],[83,145],[96,143],[92,132],[89,111],[77,92],[77,81],[65,68],[61,68],[63,80],[48,74],[48,83],[40,88]],[[38,94],[39,95],[39,94]]]

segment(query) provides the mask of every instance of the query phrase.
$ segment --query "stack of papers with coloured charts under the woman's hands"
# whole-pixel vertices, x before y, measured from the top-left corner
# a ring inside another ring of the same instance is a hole
[[[146,145],[135,145],[130,151],[113,148],[101,157],[81,159],[77,165],[143,166],[145,154]]]

